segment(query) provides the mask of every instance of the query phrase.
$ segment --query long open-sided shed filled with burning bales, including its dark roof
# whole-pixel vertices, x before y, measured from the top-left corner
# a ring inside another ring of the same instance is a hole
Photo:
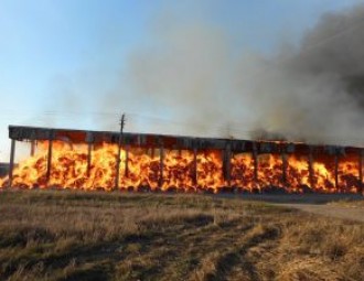
[[[120,136],[10,126],[9,175],[0,180],[0,185],[107,191],[362,193],[360,148],[148,133]],[[17,141],[30,143],[30,156],[18,164],[14,163]]]

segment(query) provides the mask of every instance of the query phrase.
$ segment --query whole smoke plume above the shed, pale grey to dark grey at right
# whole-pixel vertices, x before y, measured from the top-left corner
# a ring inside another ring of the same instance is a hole
[[[363,145],[363,6],[324,14],[299,46],[264,55],[236,52],[218,26],[172,20],[126,77],[133,99],[191,125],[178,133]]]

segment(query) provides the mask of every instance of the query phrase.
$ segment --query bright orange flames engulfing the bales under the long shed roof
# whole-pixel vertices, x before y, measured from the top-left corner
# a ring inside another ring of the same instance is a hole
[[[47,142],[39,143],[36,154],[17,165],[12,186],[115,188],[117,144],[103,143],[95,147],[88,166],[86,144],[72,145],[54,141],[49,180],[47,145]],[[195,160],[193,151],[188,150],[164,150],[162,154],[161,163],[159,150],[132,148],[127,153],[122,149],[118,188],[332,193],[357,192],[361,187],[358,159],[355,158],[341,159],[335,179],[332,161],[317,161],[310,167],[308,158],[303,155],[290,155],[283,160],[280,154],[261,154],[255,162],[251,153],[238,153],[232,156],[231,177],[226,180],[221,151],[200,151]],[[8,177],[0,179],[0,186],[6,187],[8,182]]]

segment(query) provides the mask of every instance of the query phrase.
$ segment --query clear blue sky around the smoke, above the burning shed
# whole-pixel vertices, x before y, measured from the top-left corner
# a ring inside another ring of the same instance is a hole
[[[229,52],[269,56],[299,44],[323,13],[360,2],[0,0],[0,161],[9,158],[9,125],[117,130],[127,112],[130,130],[148,131],[150,120],[183,127],[127,80],[130,57],[158,45],[163,24],[204,22],[228,37]]]

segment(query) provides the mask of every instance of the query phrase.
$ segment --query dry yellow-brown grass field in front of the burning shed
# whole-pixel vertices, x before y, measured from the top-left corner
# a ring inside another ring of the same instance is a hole
[[[364,224],[238,198],[0,193],[0,280],[364,280]]]

